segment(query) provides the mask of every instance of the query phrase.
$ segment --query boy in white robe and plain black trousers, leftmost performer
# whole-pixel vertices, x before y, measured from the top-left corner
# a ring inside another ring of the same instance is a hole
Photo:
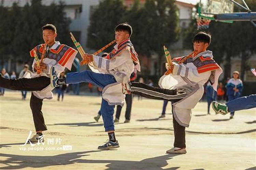
[[[0,78],[0,87],[12,90],[32,91],[30,108],[36,134],[29,139],[30,142],[44,141],[43,131],[47,130],[42,113],[42,105],[44,99],[53,98],[52,90],[54,88],[50,85],[50,68],[55,66],[57,74],[63,72],[65,68],[70,70],[77,53],[73,48],[65,44],[60,44],[59,41],[55,40],[57,30],[54,25],[46,24],[43,26],[42,35],[45,44],[38,45],[30,51],[31,57],[35,57],[36,53],[40,60],[46,45],[45,54],[39,67],[36,63],[36,59],[34,59],[32,74],[26,72],[23,78],[14,80]],[[41,73],[37,73],[38,69],[41,70]]]

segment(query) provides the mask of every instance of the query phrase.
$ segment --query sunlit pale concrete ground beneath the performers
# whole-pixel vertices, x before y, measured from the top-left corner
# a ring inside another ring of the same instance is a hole
[[[22,101],[17,91],[0,96],[0,169],[256,169],[256,109],[229,120],[212,110],[206,115],[207,103],[198,103],[186,128],[187,154],[172,155],[165,153],[173,144],[170,104],[166,118],[157,119],[163,102],[137,97],[131,122],[123,123],[124,106],[115,125],[118,149],[97,150],[108,138],[102,119],[93,119],[101,98],[71,95],[44,100],[45,144],[22,146],[29,131],[34,134],[29,97]]]

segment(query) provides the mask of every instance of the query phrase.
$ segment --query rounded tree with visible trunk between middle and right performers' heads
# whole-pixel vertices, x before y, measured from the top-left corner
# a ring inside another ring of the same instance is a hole
[[[163,45],[170,46],[179,37],[179,18],[174,0],[146,0],[140,17],[140,50],[158,55],[155,74],[160,76]],[[137,38],[137,37],[136,37]]]

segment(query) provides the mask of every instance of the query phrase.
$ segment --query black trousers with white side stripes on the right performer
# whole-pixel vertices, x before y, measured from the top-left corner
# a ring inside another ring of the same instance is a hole
[[[155,100],[168,100],[175,103],[186,96],[186,93],[177,94],[177,90],[161,89],[144,83],[131,83],[131,93]],[[173,112],[172,112],[172,115]],[[173,116],[174,147],[185,148],[185,127],[180,125]]]

